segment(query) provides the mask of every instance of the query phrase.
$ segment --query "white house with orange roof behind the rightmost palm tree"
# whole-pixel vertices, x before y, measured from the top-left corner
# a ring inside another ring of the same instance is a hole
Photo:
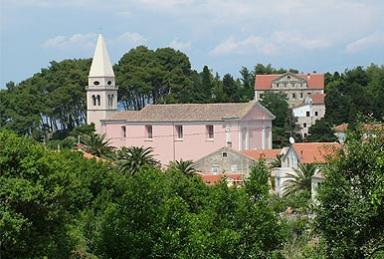
[[[283,195],[284,182],[300,164],[325,164],[340,148],[341,145],[336,142],[293,143],[282,157],[281,167],[272,172],[276,193]]]

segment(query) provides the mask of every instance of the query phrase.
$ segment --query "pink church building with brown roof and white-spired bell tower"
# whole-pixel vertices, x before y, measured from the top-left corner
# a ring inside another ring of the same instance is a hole
[[[111,145],[152,147],[162,165],[197,160],[222,147],[272,148],[274,116],[255,101],[147,105],[118,112],[115,76],[101,35],[89,74],[87,116]]]

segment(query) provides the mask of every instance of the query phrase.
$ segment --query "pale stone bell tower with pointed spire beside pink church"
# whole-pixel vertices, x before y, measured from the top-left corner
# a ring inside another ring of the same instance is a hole
[[[103,133],[100,120],[117,111],[117,86],[104,37],[97,38],[95,54],[88,75],[87,124],[94,123],[96,132]]]

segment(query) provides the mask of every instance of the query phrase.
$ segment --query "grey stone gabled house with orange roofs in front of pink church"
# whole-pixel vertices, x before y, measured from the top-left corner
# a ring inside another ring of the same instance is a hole
[[[271,163],[280,151],[280,149],[266,149],[239,152],[223,147],[198,159],[194,163],[194,168],[208,184],[217,183],[225,176],[230,185],[241,185],[249,176],[251,167],[256,161],[266,159],[267,163]]]

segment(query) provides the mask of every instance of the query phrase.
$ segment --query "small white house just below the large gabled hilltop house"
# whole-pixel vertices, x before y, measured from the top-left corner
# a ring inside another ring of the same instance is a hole
[[[304,102],[292,108],[296,123],[300,126],[300,134],[303,138],[308,136],[308,129],[325,115],[325,94],[307,96]]]

